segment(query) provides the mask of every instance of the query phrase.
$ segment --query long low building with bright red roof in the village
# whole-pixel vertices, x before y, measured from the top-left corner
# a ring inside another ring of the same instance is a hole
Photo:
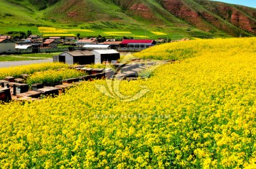
[[[140,51],[156,45],[155,40],[147,39],[124,39],[122,43],[119,44],[118,50],[120,51]]]

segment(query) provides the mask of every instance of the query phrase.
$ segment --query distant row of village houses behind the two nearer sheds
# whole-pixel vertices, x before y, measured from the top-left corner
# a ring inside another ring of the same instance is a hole
[[[82,38],[75,37],[49,37],[28,36],[26,39],[11,40],[11,36],[0,36],[0,54],[13,53],[52,53],[68,50],[100,50],[114,49],[118,51],[141,51],[156,45],[155,40],[135,40]]]

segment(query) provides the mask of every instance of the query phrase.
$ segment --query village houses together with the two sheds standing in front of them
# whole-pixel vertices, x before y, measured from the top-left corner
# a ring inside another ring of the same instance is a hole
[[[33,35],[14,41],[11,36],[0,36],[0,55],[59,52],[60,55],[53,57],[54,62],[85,65],[118,60],[119,52],[138,52],[156,43],[159,41],[156,42],[153,39],[123,39],[122,41],[99,38],[77,39],[75,37],[44,39]]]

